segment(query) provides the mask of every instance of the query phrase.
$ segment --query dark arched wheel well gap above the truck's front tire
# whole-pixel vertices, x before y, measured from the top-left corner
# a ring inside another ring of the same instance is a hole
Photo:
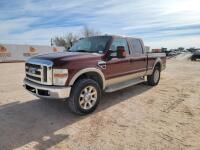
[[[101,75],[99,75],[98,73],[96,72],[87,72],[87,73],[84,73],[82,75],[80,75],[76,80],[75,80],[75,83],[81,79],[93,79],[94,81],[96,81],[99,86],[101,87],[101,89],[103,89],[103,80],[101,78]]]

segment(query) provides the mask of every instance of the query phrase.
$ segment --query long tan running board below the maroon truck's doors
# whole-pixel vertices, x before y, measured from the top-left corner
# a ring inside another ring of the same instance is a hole
[[[115,91],[130,87],[130,86],[142,83],[142,82],[145,82],[144,78],[137,78],[137,79],[128,80],[128,81],[118,83],[118,84],[114,84],[114,85],[107,87],[105,89],[105,92],[106,93],[115,92]]]

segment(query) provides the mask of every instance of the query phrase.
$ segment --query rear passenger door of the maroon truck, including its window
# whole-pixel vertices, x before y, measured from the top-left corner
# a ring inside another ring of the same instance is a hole
[[[140,39],[134,38],[129,38],[128,42],[131,50],[131,70],[135,73],[135,77],[145,76],[147,71],[147,54],[143,49],[143,42]]]

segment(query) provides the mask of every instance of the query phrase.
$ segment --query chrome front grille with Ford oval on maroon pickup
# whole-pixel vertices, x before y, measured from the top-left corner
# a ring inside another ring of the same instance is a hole
[[[30,59],[25,64],[26,79],[44,85],[52,85],[53,63],[47,60]]]

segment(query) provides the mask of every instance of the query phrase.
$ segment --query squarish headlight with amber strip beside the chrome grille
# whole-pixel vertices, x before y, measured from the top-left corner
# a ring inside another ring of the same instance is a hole
[[[67,69],[53,69],[53,85],[65,85],[67,78]]]

